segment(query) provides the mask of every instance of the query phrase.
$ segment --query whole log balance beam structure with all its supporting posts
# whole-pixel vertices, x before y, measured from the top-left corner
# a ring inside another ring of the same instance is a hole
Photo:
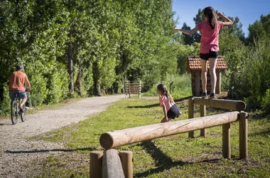
[[[200,105],[201,117],[193,118],[195,104]],[[236,111],[205,116],[205,105]],[[246,105],[243,101],[190,98],[188,100],[188,120],[165,122],[155,125],[145,125],[141,127],[127,128],[124,130],[115,130],[113,132],[105,132],[100,136],[99,142],[100,145],[105,149],[104,155],[109,154],[111,156],[104,157],[103,155],[103,167],[100,165],[100,161],[97,161],[97,159],[90,159],[90,177],[91,175],[92,177],[93,175],[98,177],[97,175],[99,175],[99,173],[100,177],[101,174],[102,177],[111,177],[112,173],[108,172],[117,172],[117,174],[113,174],[114,177],[121,177],[123,174],[124,177],[132,177],[132,156],[129,157],[129,159],[123,159],[121,158],[120,153],[119,158],[117,151],[114,150],[115,147],[129,145],[135,142],[153,140],[158,137],[166,137],[184,132],[188,132],[188,137],[194,137],[195,130],[201,130],[201,136],[205,137],[206,128],[215,127],[218,125],[222,125],[222,156],[230,159],[230,123],[236,121],[239,121],[239,157],[240,159],[247,159],[247,112],[243,111],[245,107]],[[113,152],[113,156],[112,153],[108,152]],[[101,153],[99,152],[99,154]],[[91,152],[91,154],[96,154],[96,152]],[[130,155],[132,155],[132,153]],[[95,157],[101,156],[99,155]],[[99,165],[99,168],[97,168],[97,165]],[[100,169],[102,169],[103,173],[101,173]],[[119,169],[123,169],[124,173],[119,171]],[[98,171],[99,173],[97,173]]]

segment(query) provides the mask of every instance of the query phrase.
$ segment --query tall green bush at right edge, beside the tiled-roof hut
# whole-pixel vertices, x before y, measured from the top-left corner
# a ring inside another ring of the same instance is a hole
[[[263,99],[270,88],[270,43],[257,41],[254,46],[241,46],[227,57],[229,98],[245,100],[247,109],[265,108]]]

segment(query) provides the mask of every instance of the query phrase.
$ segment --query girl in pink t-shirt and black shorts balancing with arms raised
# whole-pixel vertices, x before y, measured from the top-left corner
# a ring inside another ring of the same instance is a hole
[[[215,13],[212,7],[206,7],[203,10],[205,21],[198,23],[198,26],[192,30],[173,29],[173,32],[182,32],[187,35],[192,35],[197,31],[202,33],[200,38],[200,64],[202,66],[201,80],[202,80],[202,98],[207,97],[207,61],[210,59],[210,75],[211,75],[211,93],[210,98],[215,98],[215,85],[217,83],[217,75],[215,67],[217,65],[217,58],[219,56],[218,36],[220,29],[223,26],[231,26],[232,21],[222,13]],[[217,21],[217,16],[220,16],[225,22]]]

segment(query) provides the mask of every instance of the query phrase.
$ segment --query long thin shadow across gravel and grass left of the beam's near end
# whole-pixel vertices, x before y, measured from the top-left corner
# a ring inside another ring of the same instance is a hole
[[[29,150],[29,151],[6,151],[6,153],[10,154],[22,154],[22,153],[42,153],[42,152],[76,152],[76,151],[94,151],[97,150],[95,147],[83,147],[77,149],[52,149],[52,150]]]

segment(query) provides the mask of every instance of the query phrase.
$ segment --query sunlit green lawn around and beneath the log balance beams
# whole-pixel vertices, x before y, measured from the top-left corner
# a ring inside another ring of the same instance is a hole
[[[188,119],[188,103],[178,103]],[[199,116],[198,106],[195,117]],[[207,108],[207,115],[225,110]],[[250,113],[249,113],[250,114]],[[134,154],[134,177],[270,177],[270,115],[249,117],[249,161],[239,160],[239,125],[231,125],[232,159],[222,158],[222,127],[207,129],[207,137],[188,139],[188,134],[173,135],[117,148]],[[65,142],[70,152],[50,155],[36,177],[89,177],[89,154],[102,150],[103,132],[160,122],[162,109],[156,99],[126,99],[113,103],[106,111],[76,125],[48,132],[35,139]],[[85,160],[82,162],[82,159]],[[76,166],[72,166],[76,164]]]

